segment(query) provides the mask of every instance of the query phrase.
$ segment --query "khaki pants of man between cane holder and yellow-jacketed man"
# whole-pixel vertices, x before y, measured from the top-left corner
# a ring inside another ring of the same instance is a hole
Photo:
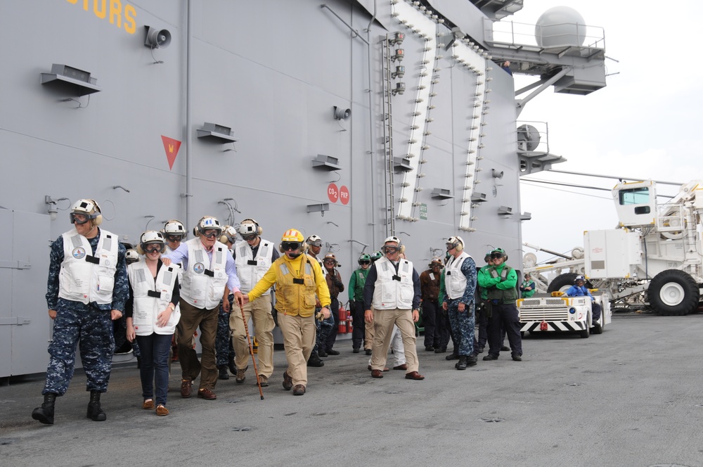
[[[249,329],[250,338],[252,332],[256,335],[259,350],[257,351],[258,366],[260,375],[271,377],[273,373],[273,316],[271,316],[271,296],[262,295],[253,302],[244,305],[244,319],[247,322],[252,319],[254,329]],[[245,369],[249,364],[249,343],[247,333],[242,319],[242,310],[233,305],[229,314],[229,327],[232,328],[232,345],[234,346],[234,363],[238,369]]]

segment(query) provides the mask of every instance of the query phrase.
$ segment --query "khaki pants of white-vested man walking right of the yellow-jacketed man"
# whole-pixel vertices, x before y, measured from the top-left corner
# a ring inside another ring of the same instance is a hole
[[[408,365],[407,373],[418,371],[417,338],[415,337],[415,323],[413,312],[410,309],[374,309],[373,310],[373,349],[371,350],[371,369],[383,370],[386,366],[388,347],[391,343],[393,325],[403,336],[405,359]]]

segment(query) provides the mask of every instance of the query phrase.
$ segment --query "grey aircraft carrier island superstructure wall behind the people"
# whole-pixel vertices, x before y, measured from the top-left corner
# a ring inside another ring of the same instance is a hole
[[[2,2],[0,378],[46,370],[49,244],[79,198],[129,243],[203,215],[315,233],[345,282],[389,235],[418,271],[453,235],[519,261],[520,176],[562,160],[520,109],[605,86],[602,32],[523,34],[522,6]],[[536,81],[516,97],[511,72]]]

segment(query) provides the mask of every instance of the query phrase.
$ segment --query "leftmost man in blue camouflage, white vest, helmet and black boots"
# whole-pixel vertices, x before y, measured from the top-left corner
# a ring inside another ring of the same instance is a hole
[[[86,390],[90,391],[87,417],[104,421],[100,395],[108,390],[112,351],[112,321],[122,317],[129,298],[125,248],[98,226],[103,221],[98,203],[78,200],[71,207],[74,229],[63,233],[51,245],[46,303],[54,320],[49,343],[44,403],[32,411],[32,418],[53,424],[56,397],[65,394],[73,377],[76,345],[79,344]]]

